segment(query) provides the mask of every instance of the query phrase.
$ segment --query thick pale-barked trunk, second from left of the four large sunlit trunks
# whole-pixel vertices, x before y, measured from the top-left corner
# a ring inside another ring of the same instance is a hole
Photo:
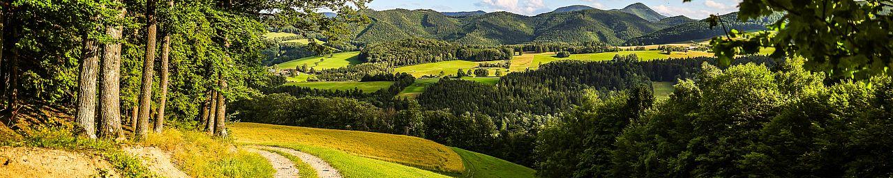
[[[124,18],[126,9],[121,9],[118,18]],[[105,28],[105,33],[115,40],[121,39],[122,27]],[[99,134],[103,138],[118,139],[121,133],[121,43],[105,44],[103,57],[102,93],[99,96],[102,126]]]

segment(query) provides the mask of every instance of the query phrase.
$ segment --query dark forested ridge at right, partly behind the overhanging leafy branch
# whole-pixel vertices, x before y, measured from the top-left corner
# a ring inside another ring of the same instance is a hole
[[[772,14],[761,20],[747,20],[741,22],[738,20],[738,12],[731,12],[720,16],[722,21],[726,23],[726,28],[738,29],[740,31],[762,30],[772,23],[772,21],[780,19],[780,14]],[[672,44],[684,43],[692,40],[705,40],[714,36],[722,36],[722,27],[711,29],[710,23],[706,20],[688,22],[673,26],[671,28],[663,28],[655,32],[651,32],[646,36],[638,36],[630,39],[625,45],[641,45],[641,44]]]

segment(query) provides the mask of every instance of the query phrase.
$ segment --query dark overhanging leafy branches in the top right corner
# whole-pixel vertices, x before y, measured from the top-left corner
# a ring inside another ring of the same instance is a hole
[[[689,2],[690,0],[683,0]],[[772,13],[783,17],[769,26],[777,32],[747,34],[730,30],[714,37],[714,53],[722,66],[741,53],[758,53],[760,47],[774,47],[773,57],[806,59],[807,69],[834,77],[866,79],[880,74],[893,75],[893,23],[884,0],[804,1],[745,0],[739,4],[740,20],[755,20]],[[711,16],[711,27],[726,21]],[[743,37],[744,39],[735,39]]]

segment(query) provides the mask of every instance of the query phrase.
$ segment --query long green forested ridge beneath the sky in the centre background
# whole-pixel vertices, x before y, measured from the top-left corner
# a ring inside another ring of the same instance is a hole
[[[641,12],[653,12],[644,4],[634,7],[647,9]],[[511,12],[450,17],[431,10],[364,11],[371,23],[356,28],[354,40],[375,44],[401,38],[423,37],[479,45],[544,41],[622,44],[632,37],[670,27],[666,23],[648,21],[630,12],[587,9],[547,12],[532,17]]]

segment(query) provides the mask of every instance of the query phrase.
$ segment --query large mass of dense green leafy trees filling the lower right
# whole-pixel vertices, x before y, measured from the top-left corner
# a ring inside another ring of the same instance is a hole
[[[538,134],[539,177],[887,177],[893,82],[824,84],[789,62],[704,65],[667,101],[588,100]]]

